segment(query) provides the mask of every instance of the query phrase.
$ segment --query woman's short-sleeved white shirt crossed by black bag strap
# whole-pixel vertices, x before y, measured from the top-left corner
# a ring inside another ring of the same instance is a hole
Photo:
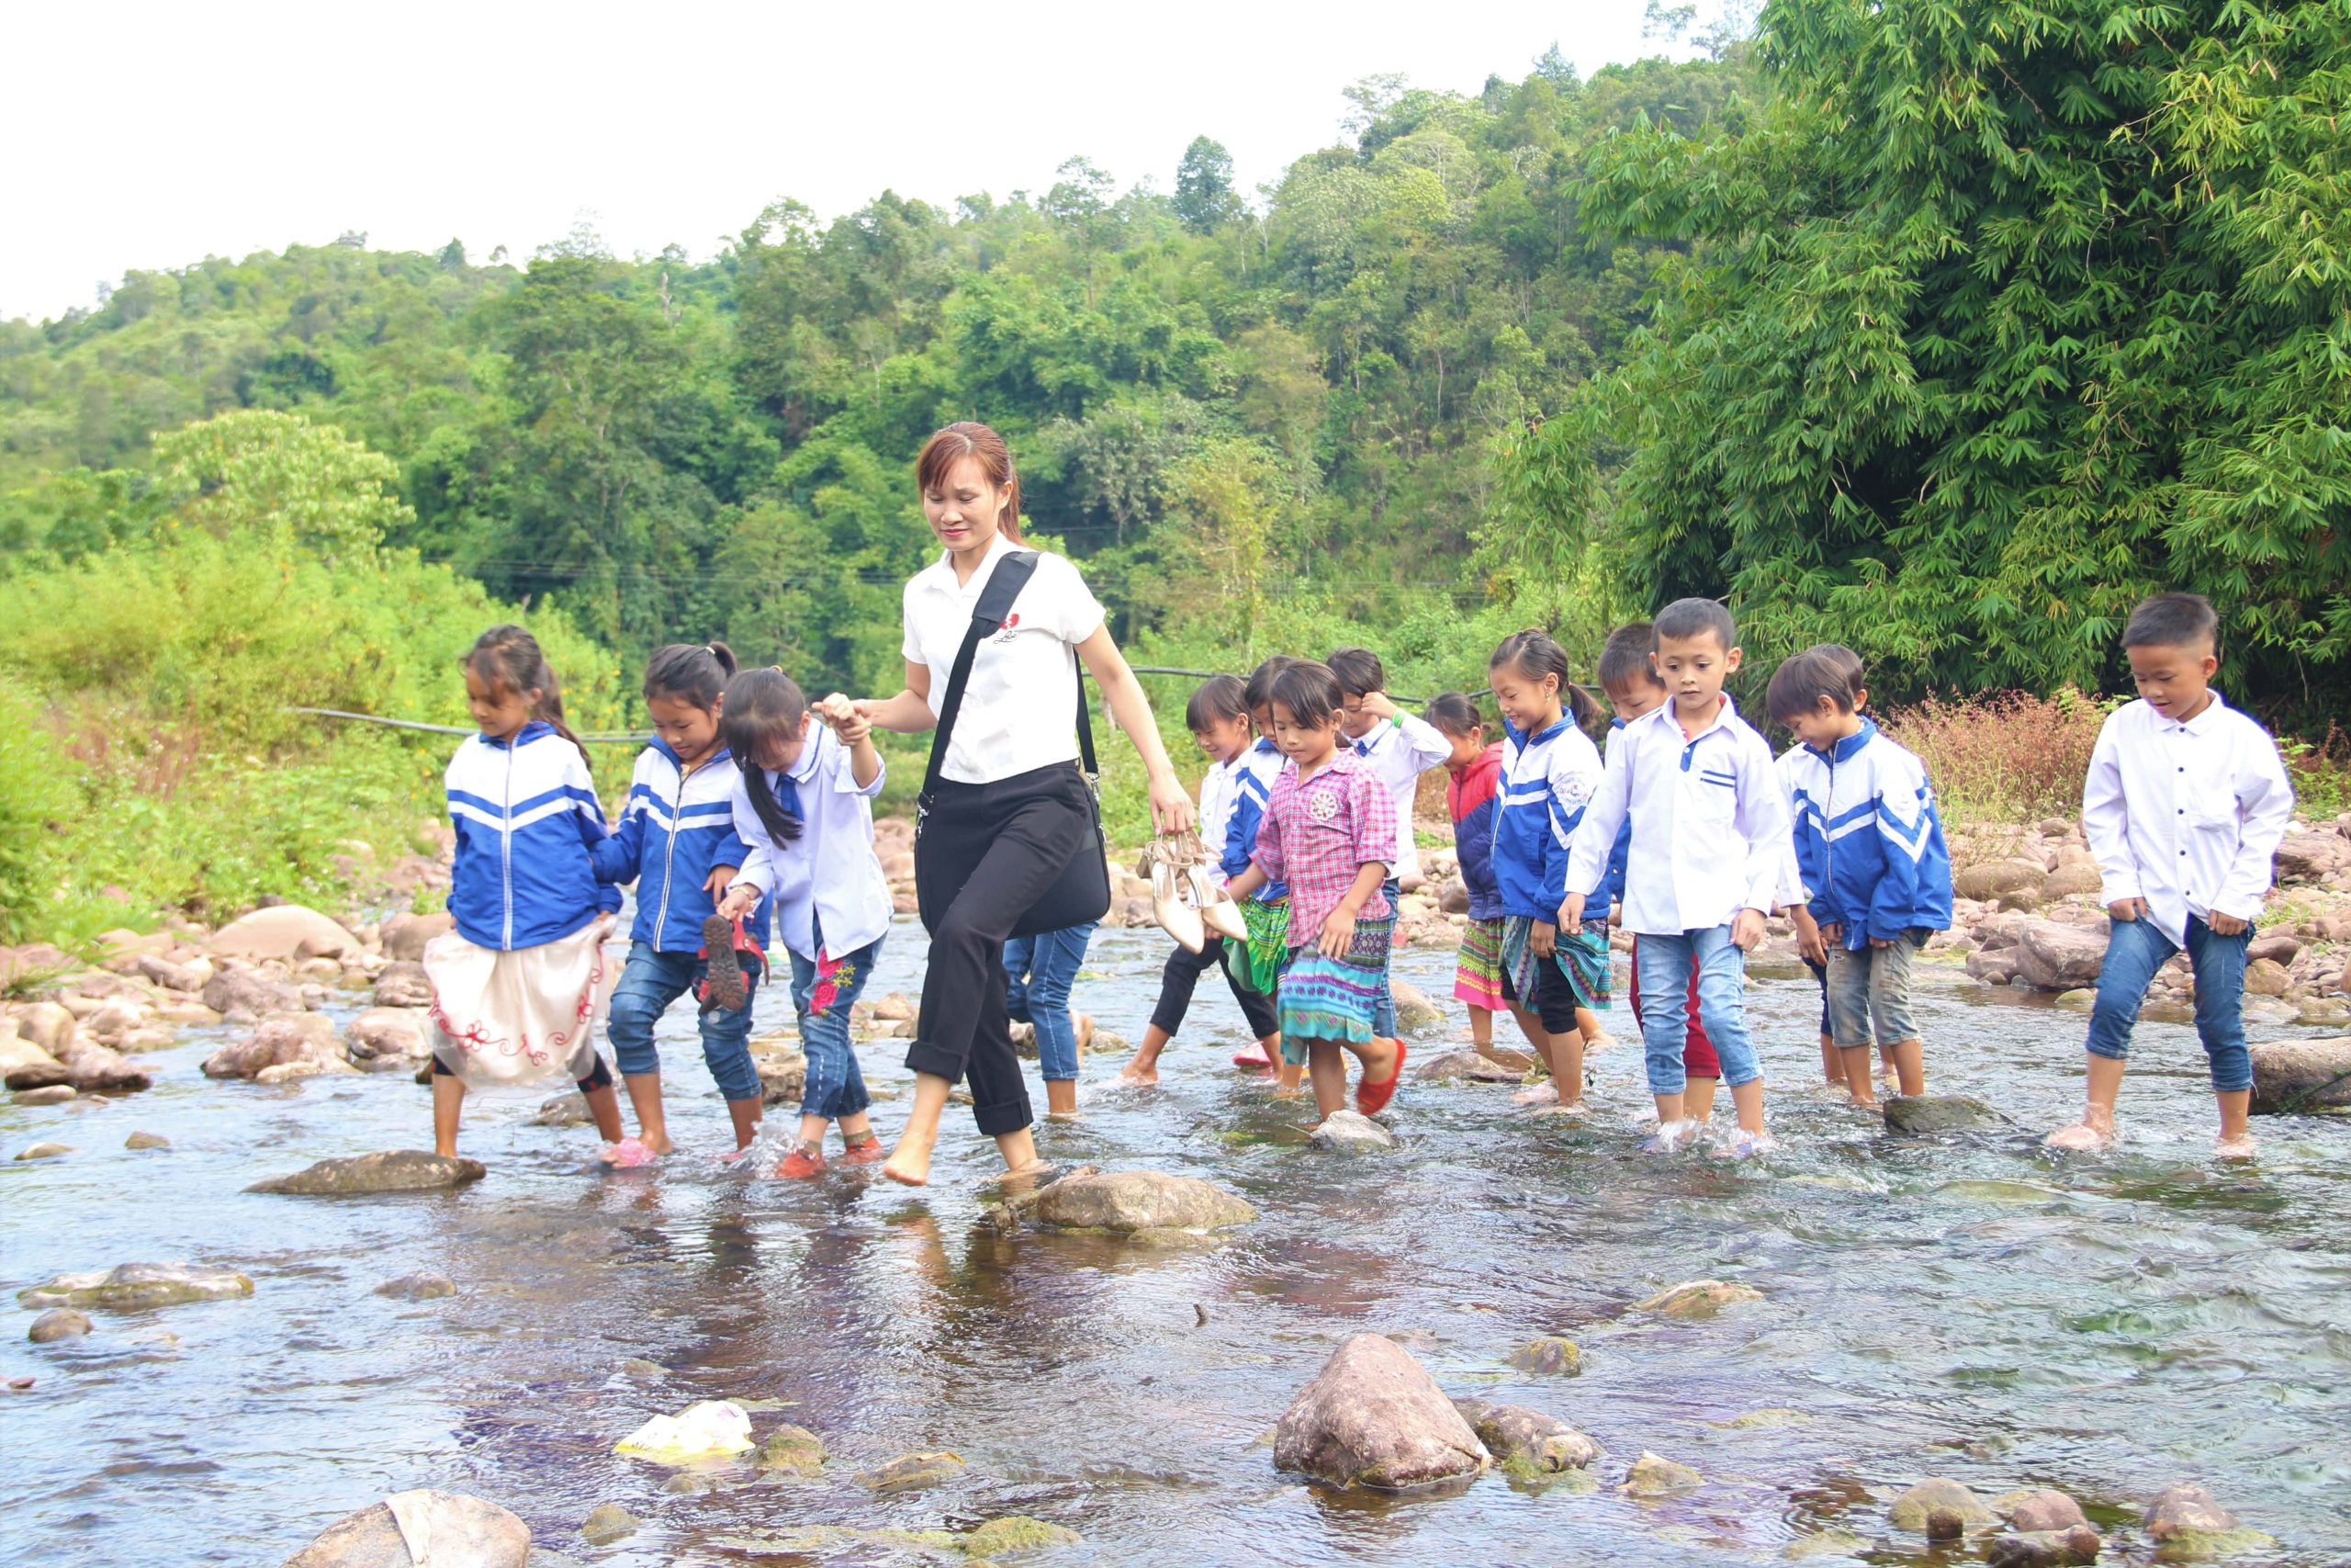
[[[955,654],[971,630],[971,611],[997,562],[1020,550],[1002,534],[987,545],[969,583],[955,581],[950,552],[905,583],[905,661],[931,668],[931,715],[947,701]],[[1013,599],[1004,630],[971,654],[964,708],[947,738],[940,776],[955,783],[994,783],[1056,762],[1077,762],[1074,649],[1103,630],[1103,607],[1077,567],[1037,555],[1037,571]]]

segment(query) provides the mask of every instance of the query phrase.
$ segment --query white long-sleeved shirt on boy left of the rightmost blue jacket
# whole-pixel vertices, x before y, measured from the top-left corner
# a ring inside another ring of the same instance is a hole
[[[1672,701],[1615,733],[1601,788],[1575,830],[1570,893],[1589,898],[1608,875],[1627,816],[1629,931],[1679,936],[1726,926],[1740,910],[1780,907],[1796,858],[1787,797],[1770,748],[1728,696],[1688,741]]]

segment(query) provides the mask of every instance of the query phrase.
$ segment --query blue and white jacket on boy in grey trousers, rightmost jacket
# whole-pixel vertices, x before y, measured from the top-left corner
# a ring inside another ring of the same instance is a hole
[[[1862,719],[1831,750],[1799,745],[1777,766],[1813,919],[1841,924],[1855,952],[1949,929],[1951,851],[1914,752]]]

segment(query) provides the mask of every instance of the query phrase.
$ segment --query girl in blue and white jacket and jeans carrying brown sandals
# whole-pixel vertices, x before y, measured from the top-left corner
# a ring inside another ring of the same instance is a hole
[[[736,771],[719,733],[734,672],[736,658],[724,642],[672,642],[654,651],[644,665],[654,738],[637,752],[621,825],[595,851],[602,882],[637,884],[637,924],[607,1023],[637,1112],[637,1135],[607,1152],[616,1166],[642,1166],[672,1150],[654,1025],[689,990],[701,1001],[703,1063],[734,1124],[734,1152],[722,1159],[736,1159],[759,1131],[750,1016],[766,971],[766,905],[755,903],[741,919],[717,912],[750,856],[734,830]]]

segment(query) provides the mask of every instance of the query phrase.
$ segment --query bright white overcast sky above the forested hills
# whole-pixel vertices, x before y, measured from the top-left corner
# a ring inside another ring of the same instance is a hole
[[[762,205],[1044,190],[1084,153],[1173,183],[1197,134],[1244,188],[1328,146],[1375,71],[1476,92],[1554,40],[1655,54],[1643,0],[1585,5],[110,5],[0,24],[0,320],[127,268],[364,230],[520,261],[592,212],[614,252],[696,256]]]

